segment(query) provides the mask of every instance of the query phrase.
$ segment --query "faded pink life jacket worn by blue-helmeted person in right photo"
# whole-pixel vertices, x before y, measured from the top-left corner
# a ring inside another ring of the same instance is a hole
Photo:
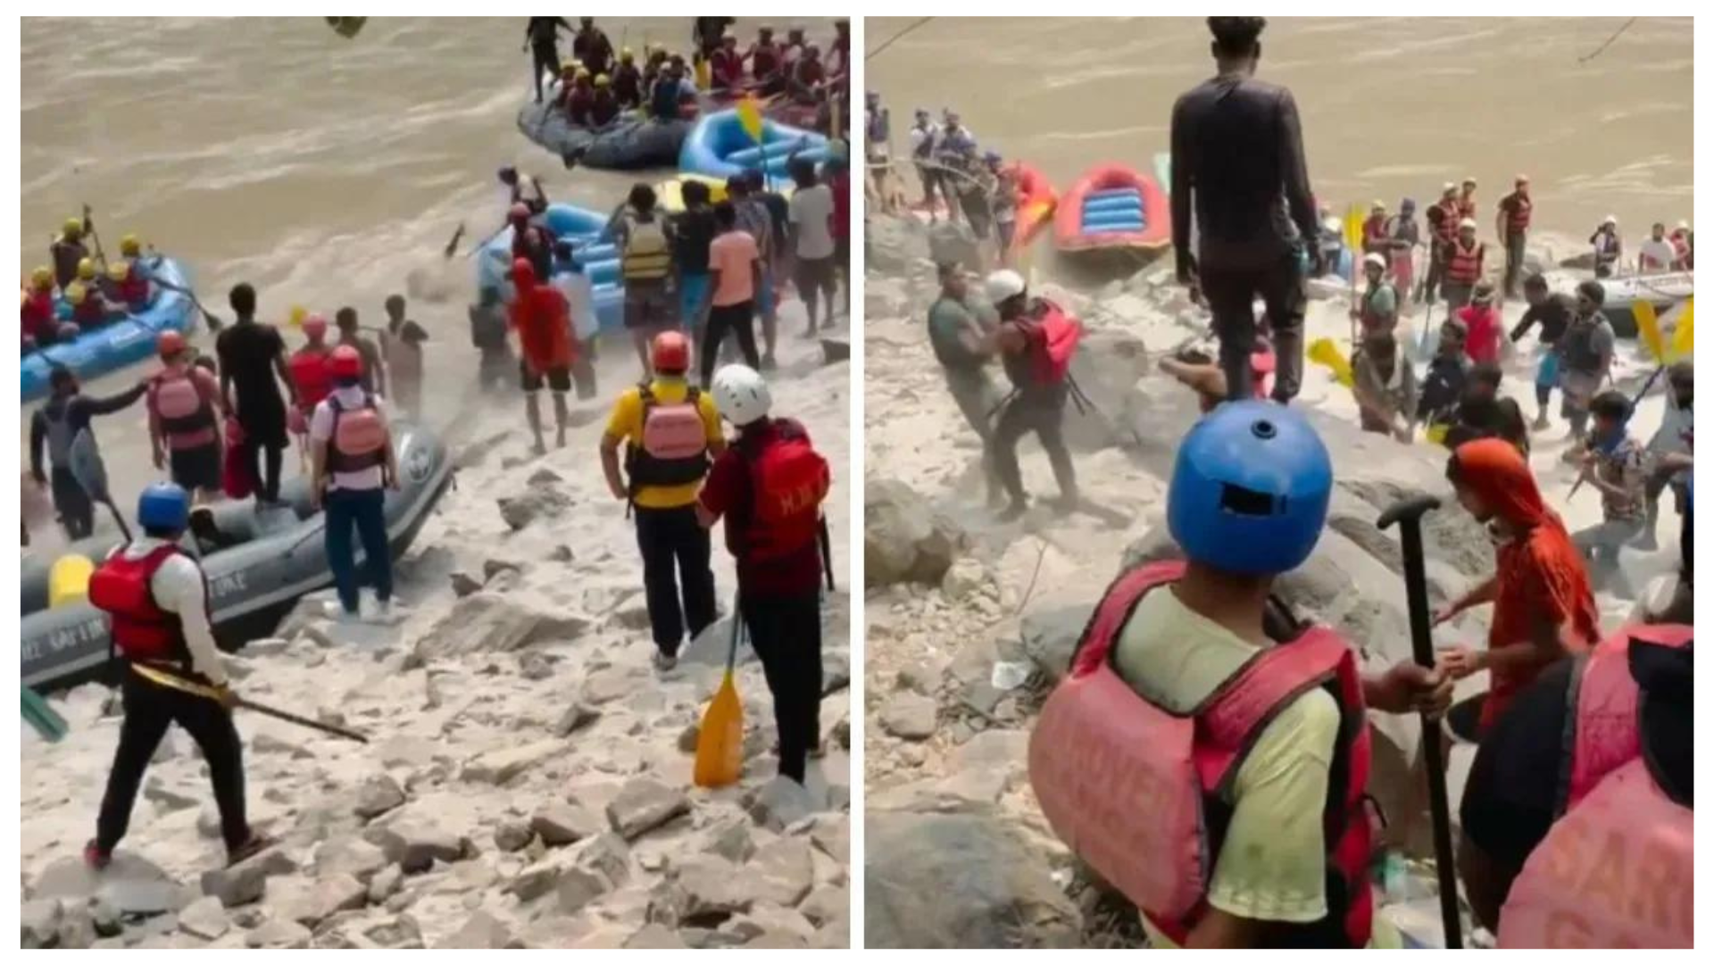
[[[1135,568],[1095,607],[1071,672],[1030,734],[1030,786],[1042,813],[1095,873],[1183,945],[1207,913],[1219,828],[1250,746],[1286,703],[1330,686],[1344,726],[1323,811],[1328,916],[1316,926],[1325,947],[1363,947],[1375,907],[1363,792],[1369,729],[1356,657],[1330,630],[1311,626],[1251,659],[1193,714],[1160,708],[1119,678],[1109,655],[1143,595],[1183,575],[1181,561]]]

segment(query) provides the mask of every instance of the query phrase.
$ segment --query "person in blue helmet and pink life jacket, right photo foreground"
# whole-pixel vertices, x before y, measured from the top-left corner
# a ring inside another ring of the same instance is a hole
[[[1270,595],[1320,540],[1332,489],[1327,448],[1297,412],[1244,400],[1203,417],[1179,444],[1167,492],[1184,559],[1114,581],[1042,710],[1037,739],[1064,726],[1059,736],[1095,743],[1100,732],[1076,727],[1128,714],[1130,750],[1116,751],[1135,758],[1123,765],[1191,777],[1160,787],[1159,816],[1133,823],[1130,849],[1106,853],[1116,865],[1181,854],[1183,871],[1159,878],[1195,882],[1128,892],[1152,947],[1397,947],[1373,916],[1368,880],[1364,712],[1438,714],[1452,686],[1411,660],[1364,678],[1345,640],[1299,624]],[[1186,715],[1193,726],[1181,726]],[[1200,768],[1205,760],[1219,767]],[[1104,784],[1056,780],[1054,768],[1032,751],[1051,823],[1094,822],[1118,803]],[[1090,787],[1102,796],[1085,796]]]

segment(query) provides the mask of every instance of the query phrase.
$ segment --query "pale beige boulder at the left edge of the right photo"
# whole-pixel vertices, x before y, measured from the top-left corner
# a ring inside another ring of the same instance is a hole
[[[963,549],[963,532],[910,485],[869,477],[864,484],[864,585],[939,585]]]

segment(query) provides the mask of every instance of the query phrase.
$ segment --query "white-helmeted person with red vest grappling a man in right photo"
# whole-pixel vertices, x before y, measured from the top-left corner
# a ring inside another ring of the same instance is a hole
[[[1078,504],[1078,489],[1064,441],[1064,410],[1075,391],[1071,355],[1083,326],[1047,298],[1032,298],[1016,271],[989,274],[987,300],[999,312],[994,341],[1013,386],[994,425],[994,473],[1011,499],[1001,518],[1015,520],[1028,509],[1018,467],[1018,443],[1028,432],[1035,432],[1047,451],[1059,484],[1059,508],[1070,511]],[[1248,376],[1250,369],[1244,372]]]

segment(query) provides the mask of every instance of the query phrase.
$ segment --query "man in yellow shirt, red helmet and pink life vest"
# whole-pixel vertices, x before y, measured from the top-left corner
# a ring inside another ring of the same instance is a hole
[[[715,621],[715,571],[708,530],[696,520],[696,496],[727,443],[713,398],[686,381],[691,345],[684,334],[656,334],[650,365],[655,379],[627,388],[614,405],[602,436],[602,470],[614,497],[636,515],[655,667],[667,671],[679,662],[686,631],[694,638]]]

